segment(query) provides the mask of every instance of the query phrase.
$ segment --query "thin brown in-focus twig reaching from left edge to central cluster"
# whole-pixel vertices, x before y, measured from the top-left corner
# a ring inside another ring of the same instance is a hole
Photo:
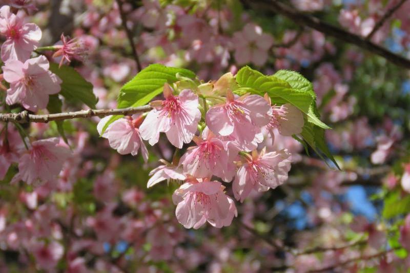
[[[7,113],[0,114],[0,121],[15,121],[18,123],[28,123],[28,122],[39,122],[47,123],[52,120],[65,120],[74,118],[90,118],[90,117],[105,117],[111,115],[132,115],[136,113],[148,112],[152,109],[151,106],[139,106],[139,107],[129,107],[124,109],[103,109],[103,110],[81,110],[76,112],[68,113],[57,113],[57,114],[47,114],[47,115],[32,115],[27,111],[20,113]]]

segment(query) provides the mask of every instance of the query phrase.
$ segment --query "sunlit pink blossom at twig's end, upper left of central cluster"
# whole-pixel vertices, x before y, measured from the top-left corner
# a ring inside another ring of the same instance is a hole
[[[181,149],[183,143],[191,142],[201,118],[198,96],[189,89],[174,96],[167,83],[163,94],[165,100],[161,101],[160,107],[148,113],[139,130],[142,138],[149,140],[151,145],[157,143],[159,133],[164,132],[171,144]]]

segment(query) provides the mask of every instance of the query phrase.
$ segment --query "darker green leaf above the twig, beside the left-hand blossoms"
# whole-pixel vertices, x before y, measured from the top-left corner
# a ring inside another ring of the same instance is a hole
[[[93,93],[93,85],[85,80],[74,68],[61,66],[53,62],[50,64],[50,71],[56,74],[61,83],[60,94],[68,101],[82,102],[90,108],[95,108],[97,98]]]

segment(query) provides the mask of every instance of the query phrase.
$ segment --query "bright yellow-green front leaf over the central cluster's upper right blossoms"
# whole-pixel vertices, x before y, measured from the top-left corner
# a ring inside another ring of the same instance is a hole
[[[311,94],[293,89],[288,82],[274,76],[265,76],[248,66],[238,71],[236,81],[240,88],[261,96],[268,93],[273,103],[291,103],[305,114],[308,114],[313,102]]]

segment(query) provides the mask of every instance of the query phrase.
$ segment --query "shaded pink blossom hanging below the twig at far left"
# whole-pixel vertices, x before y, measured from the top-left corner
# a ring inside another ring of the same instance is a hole
[[[70,150],[59,145],[58,138],[37,140],[18,163],[18,178],[33,184],[55,179],[70,155]]]

